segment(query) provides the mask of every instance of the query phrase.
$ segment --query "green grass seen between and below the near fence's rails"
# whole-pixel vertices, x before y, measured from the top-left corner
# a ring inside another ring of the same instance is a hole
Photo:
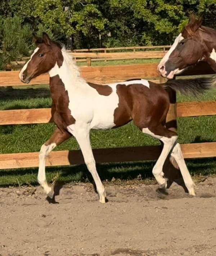
[[[48,86],[0,87],[0,110],[20,108],[48,108],[51,105]],[[177,95],[177,101],[215,100],[216,89],[198,99]],[[9,125],[0,126],[0,153],[37,152],[51,136],[55,125]],[[216,116],[178,118],[180,143],[216,141]],[[93,148],[157,145],[158,140],[142,134],[132,122],[124,127],[107,131],[92,131]],[[78,149],[74,138],[59,145],[55,150]],[[102,180],[152,179],[153,161],[97,165]],[[215,175],[216,159],[188,160],[193,175]],[[91,180],[85,165],[70,167],[47,167],[48,181],[72,182]],[[37,184],[37,169],[0,170],[0,186]],[[154,181],[153,181],[154,182]]]

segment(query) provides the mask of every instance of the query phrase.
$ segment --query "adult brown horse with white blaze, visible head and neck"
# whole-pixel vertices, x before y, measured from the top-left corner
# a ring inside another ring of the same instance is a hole
[[[158,65],[158,71],[163,77],[172,79],[200,60],[206,61],[216,72],[216,30],[201,24],[201,18],[190,16],[187,26]]]

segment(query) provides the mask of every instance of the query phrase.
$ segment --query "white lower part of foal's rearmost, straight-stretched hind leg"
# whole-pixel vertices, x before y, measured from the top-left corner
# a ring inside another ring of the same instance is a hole
[[[181,175],[184,179],[184,183],[185,186],[188,189],[188,192],[190,195],[195,196],[195,192],[194,192],[194,183],[193,180],[190,176],[190,173],[188,171],[188,168],[185,164],[182,152],[181,152],[181,146],[179,143],[177,143],[171,153],[171,156],[173,156],[177,162],[177,164],[179,165],[179,169],[181,171]]]

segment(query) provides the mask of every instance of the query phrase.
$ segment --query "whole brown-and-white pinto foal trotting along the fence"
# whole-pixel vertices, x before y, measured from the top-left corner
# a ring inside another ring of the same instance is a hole
[[[39,154],[38,181],[46,194],[53,192],[46,181],[45,158],[50,151],[72,135],[77,139],[86,166],[93,176],[99,201],[105,203],[105,189],[96,171],[91,149],[90,129],[116,128],[131,120],[146,134],[161,140],[164,144],[161,155],[153,168],[158,184],[167,186],[162,171],[169,153],[177,161],[185,185],[191,195],[195,195],[194,184],[185,165],[177,134],[166,129],[165,121],[169,108],[169,90],[185,93],[201,92],[208,88],[208,79],[176,80],[166,84],[134,79],[109,85],[86,82],[67,51],[46,33],[35,37],[37,48],[30,61],[23,67],[19,77],[28,83],[33,77],[48,72],[50,93],[53,100],[52,117],[57,129],[42,145]]]

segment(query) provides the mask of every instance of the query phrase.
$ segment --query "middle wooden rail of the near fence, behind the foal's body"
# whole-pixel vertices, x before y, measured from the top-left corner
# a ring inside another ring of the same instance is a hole
[[[216,114],[216,101],[177,103],[177,117],[211,116]],[[13,109],[0,111],[0,125],[49,123],[50,108]]]

